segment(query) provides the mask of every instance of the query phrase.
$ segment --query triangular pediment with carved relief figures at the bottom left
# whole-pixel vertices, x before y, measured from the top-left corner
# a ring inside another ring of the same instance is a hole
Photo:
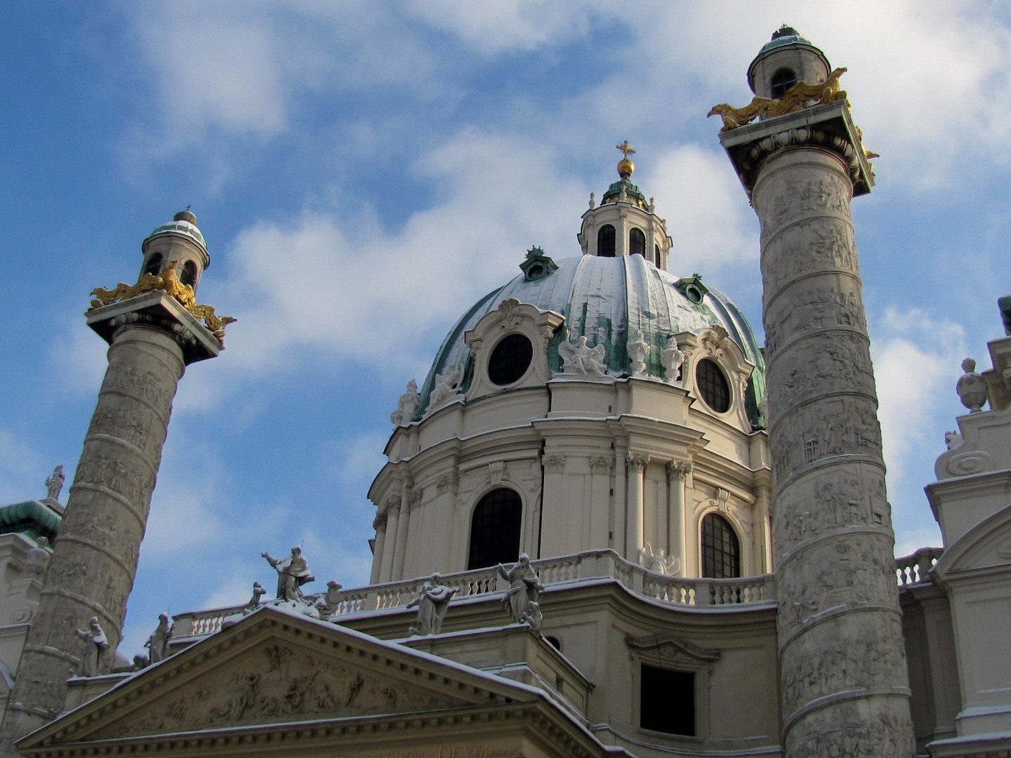
[[[530,698],[476,669],[264,607],[145,669],[19,747],[409,715]]]

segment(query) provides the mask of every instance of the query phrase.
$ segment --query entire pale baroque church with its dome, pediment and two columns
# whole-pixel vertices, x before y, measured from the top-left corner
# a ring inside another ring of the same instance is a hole
[[[176,382],[231,320],[197,302],[196,217],[156,228],[137,283],[88,312],[109,369],[66,508],[59,471],[0,508],[0,750],[1011,755],[1011,337],[963,366],[927,487],[943,548],[896,561],[843,71],[784,27],[752,102],[713,109],[761,222],[764,341],[667,272],[624,143],[578,255],[528,251],[400,397],[370,584],[310,594],[296,551],[268,556],[275,599],[164,620],[131,665],[123,587]]]

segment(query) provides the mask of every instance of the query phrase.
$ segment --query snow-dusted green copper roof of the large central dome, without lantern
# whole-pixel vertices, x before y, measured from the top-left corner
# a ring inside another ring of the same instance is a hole
[[[740,345],[745,358],[756,366],[748,382],[748,415],[756,427],[764,427],[758,398],[765,391],[765,362],[744,314],[726,295],[703,285],[698,275],[679,279],[657,269],[642,256],[580,256],[558,261],[557,266],[557,270],[533,281],[521,274],[489,292],[463,314],[447,335],[421,387],[419,417],[428,409],[429,394],[438,374],[464,367],[466,389],[472,367],[464,335],[502,300],[515,297],[542,311],[553,310],[565,316],[565,323],[548,344],[548,362],[556,372],[561,371],[562,365],[558,345],[568,333],[572,340],[586,337],[589,345],[603,345],[611,372],[627,375],[631,369],[629,335],[638,329],[651,348],[646,376],[668,381],[660,363],[667,338],[679,331],[698,334],[707,326],[723,326]]]

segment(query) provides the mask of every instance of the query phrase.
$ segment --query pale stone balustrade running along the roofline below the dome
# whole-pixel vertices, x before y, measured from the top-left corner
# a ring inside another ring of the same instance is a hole
[[[940,548],[923,548],[911,556],[898,559],[896,574],[899,585],[929,581],[927,572],[937,562],[941,552]],[[638,595],[672,605],[699,608],[722,605],[746,606],[775,601],[775,583],[772,574],[734,579],[685,579],[679,576],[664,576],[626,561],[611,550],[592,550],[561,558],[531,561],[531,564],[537,569],[541,582],[548,587],[583,579],[611,578]],[[421,589],[425,579],[426,577],[419,577],[342,590],[335,617],[405,605]],[[491,594],[504,589],[504,585],[499,587],[500,579],[495,568],[447,574],[443,576],[442,581],[450,587],[459,588],[458,598]],[[175,618],[175,639],[213,634],[221,629],[224,619],[241,611],[242,606],[236,605],[180,613]]]

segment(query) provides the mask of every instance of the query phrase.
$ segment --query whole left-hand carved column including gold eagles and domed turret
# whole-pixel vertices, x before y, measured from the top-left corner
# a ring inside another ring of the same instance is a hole
[[[111,666],[177,383],[186,365],[218,355],[224,323],[234,320],[214,320],[213,308],[197,305],[193,288],[176,276],[185,261],[195,283],[209,263],[196,216],[177,214],[142,250],[137,283],[95,290],[88,311],[88,325],[109,343],[109,365],[10,695],[2,755],[14,755],[15,740],[64,709],[68,674],[82,672],[92,644],[77,630],[88,630],[93,619],[108,647],[98,670],[84,673]]]

